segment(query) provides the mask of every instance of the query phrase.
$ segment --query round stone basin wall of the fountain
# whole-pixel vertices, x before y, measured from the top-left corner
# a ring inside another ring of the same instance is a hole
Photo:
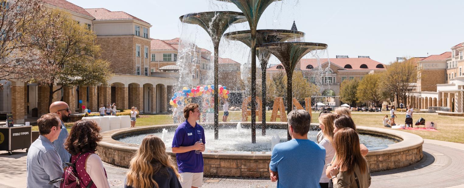
[[[219,123],[219,127],[233,126],[236,123]],[[249,126],[251,122],[242,122]],[[317,124],[311,124],[316,127]],[[257,122],[257,126],[260,124]],[[267,127],[286,127],[286,122],[268,122]],[[136,128],[122,128],[101,133],[103,139],[98,143],[97,151],[103,161],[124,167],[129,166],[130,159],[138,149],[138,145],[123,143],[116,139],[125,135],[154,132],[163,128],[177,127],[176,124],[156,125]],[[208,125],[204,126],[205,129]],[[221,129],[219,129],[221,130]],[[157,131],[157,132],[158,132]],[[422,157],[422,144],[424,140],[412,133],[375,128],[357,127],[359,133],[378,135],[402,140],[398,143],[386,146],[383,149],[369,151],[366,159],[371,172],[390,170],[405,167],[416,163]],[[219,131],[219,134],[221,132]],[[208,142],[208,140],[206,140]],[[175,159],[175,154],[168,148],[167,152]],[[206,176],[242,176],[242,177],[268,177],[271,152],[230,152],[230,151],[205,151],[204,174]]]

